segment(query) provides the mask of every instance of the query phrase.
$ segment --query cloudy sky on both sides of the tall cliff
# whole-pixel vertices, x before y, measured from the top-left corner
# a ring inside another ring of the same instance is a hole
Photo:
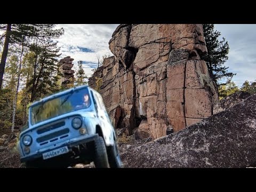
[[[97,68],[97,55],[102,58],[105,54],[113,55],[108,42],[119,24],[61,24],[64,35],[59,41],[61,58],[70,56],[84,63],[87,76],[92,75],[92,69]],[[242,86],[245,80],[256,79],[256,25],[245,24],[215,24],[215,29],[220,31],[229,44],[228,61],[225,66],[229,71],[236,73],[233,81]]]

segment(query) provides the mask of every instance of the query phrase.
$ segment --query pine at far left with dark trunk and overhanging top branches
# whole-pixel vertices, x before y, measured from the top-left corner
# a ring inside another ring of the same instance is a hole
[[[0,30],[5,30],[1,38],[5,38],[0,63],[0,89],[2,89],[3,76],[9,44],[22,44],[29,46],[31,41],[42,43],[51,38],[58,38],[63,34],[63,28],[54,29],[54,24],[0,24]],[[28,41],[25,42],[24,38]]]

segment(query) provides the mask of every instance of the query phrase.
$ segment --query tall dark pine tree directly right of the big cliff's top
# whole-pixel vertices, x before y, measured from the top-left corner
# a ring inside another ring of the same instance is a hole
[[[214,30],[214,24],[203,24],[203,30],[208,52],[206,54],[200,53],[200,56],[206,62],[211,79],[219,88],[220,85],[226,85],[230,82],[231,78],[236,75],[228,72],[228,67],[224,65],[228,60],[228,42],[225,38],[219,41],[218,38],[221,34]]]

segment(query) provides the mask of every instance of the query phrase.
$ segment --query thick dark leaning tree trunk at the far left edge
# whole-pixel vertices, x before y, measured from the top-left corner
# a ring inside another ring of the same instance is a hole
[[[8,52],[8,47],[9,47],[9,42],[11,37],[11,28],[12,28],[12,24],[7,24],[6,36],[4,40],[4,49],[3,49],[3,54],[2,54],[1,63],[0,63],[0,90],[2,89],[2,84],[3,84],[4,68],[5,68],[7,52]]]

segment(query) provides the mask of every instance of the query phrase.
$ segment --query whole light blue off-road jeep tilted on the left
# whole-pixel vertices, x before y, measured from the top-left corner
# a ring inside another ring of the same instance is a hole
[[[28,109],[18,150],[26,167],[122,167],[117,135],[101,95],[87,85],[53,94]]]

